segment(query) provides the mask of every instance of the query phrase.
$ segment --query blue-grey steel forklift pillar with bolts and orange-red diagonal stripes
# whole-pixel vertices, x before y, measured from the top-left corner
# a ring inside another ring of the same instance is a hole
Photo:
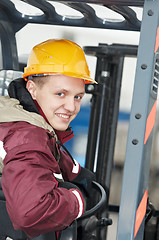
[[[127,139],[117,240],[143,239],[159,81],[158,9],[159,1],[145,1]]]

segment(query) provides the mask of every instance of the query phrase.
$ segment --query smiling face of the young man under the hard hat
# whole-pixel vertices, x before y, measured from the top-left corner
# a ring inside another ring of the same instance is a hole
[[[26,87],[50,125],[56,130],[64,131],[80,110],[85,94],[84,81],[66,75],[45,78],[46,83],[42,87],[33,81],[28,81]]]

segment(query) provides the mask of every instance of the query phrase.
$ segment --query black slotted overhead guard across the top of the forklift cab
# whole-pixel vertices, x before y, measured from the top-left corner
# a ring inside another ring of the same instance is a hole
[[[20,0],[19,0],[20,1]],[[136,12],[129,6],[142,7],[143,0],[138,1],[107,1],[107,0],[63,0],[63,1],[45,1],[45,0],[21,0],[25,4],[34,6],[42,11],[41,15],[25,15],[19,12],[10,0],[1,0],[0,9],[6,12],[10,22],[14,23],[15,32],[28,23],[64,25],[76,27],[89,27],[101,29],[117,29],[128,31],[140,31],[141,21],[137,18]],[[61,3],[79,11],[82,17],[63,16],[56,12],[56,8],[51,3]],[[88,3],[98,4],[103,8],[109,8],[120,14],[123,20],[99,18],[94,8]]]

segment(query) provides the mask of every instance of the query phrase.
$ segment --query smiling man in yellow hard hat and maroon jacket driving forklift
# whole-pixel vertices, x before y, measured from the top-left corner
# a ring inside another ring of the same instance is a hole
[[[69,226],[84,212],[83,193],[91,194],[93,173],[61,148],[73,137],[69,124],[89,82],[81,47],[51,39],[32,49],[23,79],[0,99],[6,207],[14,228],[30,238]]]

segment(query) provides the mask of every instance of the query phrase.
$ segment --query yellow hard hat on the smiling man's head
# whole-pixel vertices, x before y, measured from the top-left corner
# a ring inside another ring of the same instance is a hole
[[[37,74],[60,73],[84,79],[85,83],[96,83],[90,71],[82,48],[66,39],[49,39],[36,45],[24,68],[23,78]]]

